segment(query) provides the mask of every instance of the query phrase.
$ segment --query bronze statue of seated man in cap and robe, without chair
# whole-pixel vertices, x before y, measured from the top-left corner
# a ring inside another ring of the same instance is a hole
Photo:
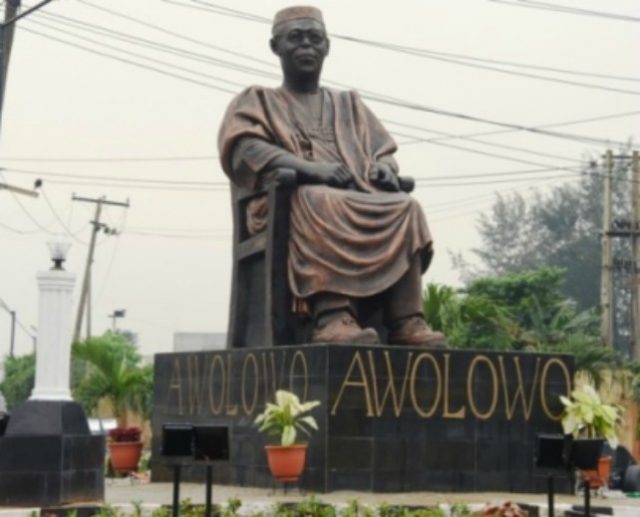
[[[258,188],[270,171],[294,169],[289,287],[314,318],[312,341],[379,343],[358,323],[358,302],[382,294],[391,344],[441,346],[426,324],[421,274],[432,256],[419,204],[399,189],[396,144],[355,91],[320,87],[329,39],[315,7],[274,19],[271,49],[279,88],[252,86],[229,106],[219,135],[224,172]],[[267,201],[247,207],[247,227],[264,229]]]

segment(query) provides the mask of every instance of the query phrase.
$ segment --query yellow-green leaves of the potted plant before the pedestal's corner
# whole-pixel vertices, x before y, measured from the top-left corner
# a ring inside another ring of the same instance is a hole
[[[279,437],[280,444],[287,447],[295,443],[298,430],[307,435],[311,430],[318,430],[315,418],[305,413],[319,405],[318,401],[301,403],[294,393],[278,390],[276,403],[267,402],[267,407],[257,416],[255,424],[260,432]]]

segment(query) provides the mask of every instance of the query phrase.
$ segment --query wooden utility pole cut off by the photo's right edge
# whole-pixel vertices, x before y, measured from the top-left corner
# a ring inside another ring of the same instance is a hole
[[[633,332],[631,357],[640,358],[640,154],[631,157],[632,264],[631,264],[631,324]]]

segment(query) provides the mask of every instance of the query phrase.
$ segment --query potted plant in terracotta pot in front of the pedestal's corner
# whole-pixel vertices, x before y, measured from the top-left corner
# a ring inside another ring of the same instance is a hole
[[[302,474],[307,444],[296,443],[296,439],[298,431],[310,435],[318,429],[315,419],[307,413],[319,405],[318,401],[302,403],[294,393],[278,390],[275,404],[268,402],[264,412],[256,417],[258,430],[278,442],[265,445],[269,469],[278,481],[294,482]]]

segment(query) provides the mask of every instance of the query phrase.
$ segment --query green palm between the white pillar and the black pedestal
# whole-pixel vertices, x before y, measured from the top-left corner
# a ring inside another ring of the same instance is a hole
[[[93,414],[100,401],[106,399],[119,426],[126,426],[128,411],[149,417],[153,368],[140,365],[140,355],[126,338],[107,332],[74,343],[72,354],[85,367],[75,398],[87,413]]]

